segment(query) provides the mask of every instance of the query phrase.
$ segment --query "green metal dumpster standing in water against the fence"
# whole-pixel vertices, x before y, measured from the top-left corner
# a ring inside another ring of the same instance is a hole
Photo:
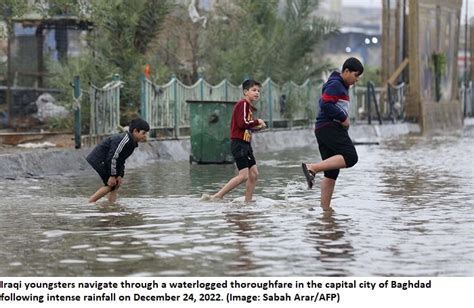
[[[191,117],[191,156],[198,164],[233,163],[230,121],[235,102],[186,101]]]

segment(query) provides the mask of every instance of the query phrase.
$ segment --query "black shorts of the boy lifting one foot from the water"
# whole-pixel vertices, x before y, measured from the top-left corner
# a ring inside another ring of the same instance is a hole
[[[346,168],[357,163],[357,151],[352,143],[347,130],[342,125],[334,123],[315,131],[318,141],[319,152],[323,160],[334,155],[342,155],[346,162]],[[324,172],[324,176],[333,180],[337,179],[339,169]]]

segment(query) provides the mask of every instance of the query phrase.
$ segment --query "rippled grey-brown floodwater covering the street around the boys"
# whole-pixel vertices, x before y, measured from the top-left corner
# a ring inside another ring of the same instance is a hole
[[[315,144],[256,153],[252,204],[239,202],[243,187],[199,201],[232,165],[127,170],[114,205],[87,204],[92,169],[0,180],[0,276],[473,276],[474,127],[357,150],[333,213],[301,174],[319,160]]]

